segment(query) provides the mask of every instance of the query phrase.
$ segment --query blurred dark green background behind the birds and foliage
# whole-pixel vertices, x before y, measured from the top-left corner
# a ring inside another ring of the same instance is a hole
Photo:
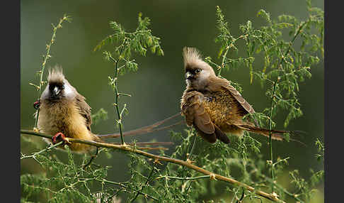
[[[323,9],[323,1],[312,2],[313,6]],[[137,72],[120,76],[120,92],[131,94],[122,97],[121,102],[128,104],[129,114],[125,116],[125,131],[152,124],[179,111],[180,97],[185,89],[183,46],[193,46],[201,50],[204,56],[216,59],[219,45],[214,43],[217,36],[215,8],[220,6],[229,22],[233,35],[239,34],[239,25],[250,20],[258,28],[264,21],[256,17],[259,9],[270,12],[273,19],[280,14],[289,14],[305,19],[306,1],[21,1],[21,128],[32,129],[33,102],[38,92],[29,82],[38,83],[35,72],[40,70],[45,45],[52,36],[51,23],[57,25],[64,13],[71,16],[71,23],[64,23],[57,31],[55,44],[52,45],[47,67],[61,65],[69,82],[79,93],[87,98],[92,112],[103,108],[108,111],[109,119],[92,126],[94,133],[111,133],[115,129],[114,95],[108,85],[108,75],[113,76],[114,68],[103,59],[102,51],[93,52],[93,48],[112,33],[109,21],[120,23],[127,31],[137,26],[137,16],[151,18],[153,35],[161,38],[164,56],[147,53],[147,57],[134,55],[139,64]],[[239,47],[240,50],[240,47]],[[235,56],[236,57],[236,56]],[[257,68],[260,68],[257,65]],[[289,124],[289,130],[306,131],[299,143],[275,142],[275,158],[290,157],[288,168],[299,169],[300,174],[308,179],[309,169],[321,170],[322,163],[314,157],[317,153],[314,142],[323,138],[323,60],[311,69],[311,79],[300,85],[299,98],[304,116]],[[243,87],[243,97],[254,106],[256,111],[263,111],[269,100],[265,98],[265,89],[253,81],[249,84],[248,68],[238,68],[224,72],[224,77],[238,82]],[[46,78],[46,75],[45,75]],[[277,119],[277,128],[282,129],[285,114]],[[180,120],[176,119],[176,120]],[[183,131],[185,126],[177,126],[174,131]],[[127,137],[126,141],[134,137]],[[168,131],[137,136],[138,141],[169,141]],[[34,138],[35,139],[35,138]],[[268,140],[258,138],[263,147],[261,152],[268,154]],[[117,140],[119,141],[119,140]],[[37,139],[40,142],[40,139]],[[201,145],[200,145],[201,147]],[[173,149],[173,147],[170,147]],[[21,142],[24,153],[32,152],[31,146]],[[127,180],[127,158],[123,154],[113,153],[113,158],[98,158],[97,163],[112,165],[109,178],[116,181]],[[40,172],[39,165],[30,160],[21,161],[21,172]],[[287,176],[287,174],[286,174]],[[319,188],[322,190],[322,188]],[[319,201],[323,201],[320,198]]]

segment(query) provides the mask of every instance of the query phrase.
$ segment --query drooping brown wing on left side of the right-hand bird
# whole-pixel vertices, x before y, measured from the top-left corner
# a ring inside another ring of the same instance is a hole
[[[181,110],[185,115],[186,124],[188,124],[188,126],[194,124],[203,133],[213,134],[215,128],[210,120],[210,116],[205,111],[205,106],[203,104],[204,99],[205,97],[200,92],[185,92]]]

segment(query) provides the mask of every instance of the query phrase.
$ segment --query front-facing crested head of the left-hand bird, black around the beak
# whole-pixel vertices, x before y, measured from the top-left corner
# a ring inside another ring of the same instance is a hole
[[[74,99],[76,97],[76,90],[64,78],[61,68],[55,67],[49,70],[47,81],[48,84],[41,99],[59,101],[60,99]]]

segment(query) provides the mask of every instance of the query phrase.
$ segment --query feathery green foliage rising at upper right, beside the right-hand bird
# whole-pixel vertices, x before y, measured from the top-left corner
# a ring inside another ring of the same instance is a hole
[[[306,21],[299,21],[288,15],[278,16],[277,21],[273,21],[270,13],[261,9],[257,16],[264,18],[268,25],[254,28],[252,22],[247,21],[240,26],[242,34],[238,37],[231,35],[224,15],[217,7],[217,27],[220,33],[215,42],[220,43],[218,56],[222,57],[222,64],[217,65],[208,57],[210,65],[219,69],[218,75],[222,69],[228,70],[243,65],[250,70],[251,83],[256,77],[262,87],[275,85],[275,88],[268,88],[265,93],[267,97],[273,98],[273,108],[268,107],[263,113],[275,117],[277,111],[289,111],[285,118],[285,127],[292,119],[302,116],[297,98],[299,82],[311,77],[311,67],[320,61],[319,57],[323,57],[323,11],[311,7],[310,2],[307,2],[309,18]],[[314,30],[317,32],[314,33]],[[288,32],[291,40],[285,41],[283,32]],[[302,45],[295,48],[294,43],[298,37]],[[227,57],[229,52],[239,52],[236,45],[239,40],[245,43],[247,57]],[[253,70],[255,58],[260,56],[263,56],[264,65]]]

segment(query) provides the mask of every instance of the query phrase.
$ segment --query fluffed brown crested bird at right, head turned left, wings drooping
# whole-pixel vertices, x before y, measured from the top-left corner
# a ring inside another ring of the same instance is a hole
[[[219,139],[229,143],[225,133],[242,136],[243,131],[258,133],[281,141],[282,133],[259,128],[243,121],[246,114],[254,112],[253,107],[224,78],[217,77],[214,70],[195,48],[183,48],[186,89],[180,102],[180,109],[188,126],[194,126],[197,134],[210,143]]]

